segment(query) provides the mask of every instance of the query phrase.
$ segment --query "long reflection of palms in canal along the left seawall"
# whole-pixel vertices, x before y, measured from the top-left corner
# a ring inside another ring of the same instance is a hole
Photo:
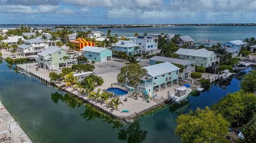
[[[85,110],[81,114],[81,116],[84,119],[86,119],[86,121],[101,119],[102,122],[113,124],[114,129],[119,129],[123,127],[123,122],[116,120],[113,117],[110,117],[98,111],[96,108],[92,107],[91,105],[85,104],[82,100],[77,99],[76,97],[73,97],[69,94],[65,94],[63,96],[59,92],[55,92],[54,94],[51,94],[51,99],[55,104],[58,104],[58,102],[61,100],[63,103],[66,103],[70,108],[83,106]]]

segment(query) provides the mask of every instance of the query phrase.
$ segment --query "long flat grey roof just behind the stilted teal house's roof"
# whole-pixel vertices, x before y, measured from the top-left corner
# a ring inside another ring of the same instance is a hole
[[[163,56],[154,56],[154,57],[151,57],[149,60],[161,61],[161,62],[170,62],[170,63],[181,64],[181,65],[188,65],[188,64],[191,64],[191,63],[195,63],[195,61],[182,60],[182,59],[179,59],[179,58],[171,58],[171,57],[163,57]]]

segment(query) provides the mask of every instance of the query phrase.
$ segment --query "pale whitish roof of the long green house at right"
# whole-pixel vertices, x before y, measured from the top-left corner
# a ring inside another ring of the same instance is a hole
[[[185,49],[179,48],[176,54],[178,55],[188,55],[188,56],[197,56],[197,57],[210,57],[213,51],[207,51],[207,49]],[[215,54],[215,53],[214,53]]]

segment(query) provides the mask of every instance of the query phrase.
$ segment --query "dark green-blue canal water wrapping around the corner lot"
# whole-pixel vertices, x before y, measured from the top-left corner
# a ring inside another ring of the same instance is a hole
[[[0,63],[0,100],[33,142],[181,142],[174,133],[179,113],[211,106],[240,89],[240,81],[233,78],[224,89],[213,85],[209,91],[189,96],[188,103],[178,109],[165,106],[131,124],[9,68],[6,62]]]

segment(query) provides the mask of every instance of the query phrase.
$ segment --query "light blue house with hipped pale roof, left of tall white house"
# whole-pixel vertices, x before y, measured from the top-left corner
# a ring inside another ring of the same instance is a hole
[[[136,47],[139,47],[139,45],[135,44],[132,40],[119,40],[111,47],[111,49],[113,49],[113,51],[125,52],[127,53],[127,55],[133,55],[138,53],[137,51],[135,51]]]

